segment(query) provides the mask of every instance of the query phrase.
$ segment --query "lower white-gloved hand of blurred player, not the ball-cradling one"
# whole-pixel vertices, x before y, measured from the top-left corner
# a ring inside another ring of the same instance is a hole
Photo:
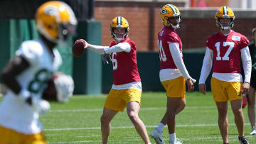
[[[49,102],[41,98],[29,96],[28,99],[26,99],[26,103],[32,106],[40,115],[44,115],[50,110]]]

